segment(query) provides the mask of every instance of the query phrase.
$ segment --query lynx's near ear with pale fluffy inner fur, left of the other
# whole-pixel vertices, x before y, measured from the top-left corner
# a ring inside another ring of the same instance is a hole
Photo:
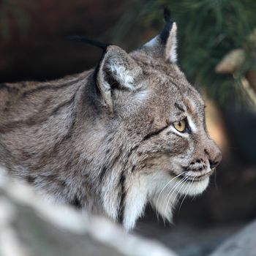
[[[97,70],[97,86],[105,103],[113,109],[116,91],[134,91],[141,68],[132,57],[116,45],[109,45]],[[120,95],[120,94],[118,94]]]

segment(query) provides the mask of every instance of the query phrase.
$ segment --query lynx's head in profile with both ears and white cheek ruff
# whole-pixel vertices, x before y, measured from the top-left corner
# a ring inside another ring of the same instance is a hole
[[[176,64],[176,23],[126,53],[108,45],[96,73],[108,117],[102,180],[105,212],[129,230],[146,203],[171,220],[178,199],[198,195],[222,159],[205,105]]]

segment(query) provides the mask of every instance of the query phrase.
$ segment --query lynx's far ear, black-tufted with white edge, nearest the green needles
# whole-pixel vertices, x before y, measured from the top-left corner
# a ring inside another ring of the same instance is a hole
[[[176,23],[170,18],[170,11],[165,9],[165,26],[162,29],[162,32],[154,37],[145,45],[143,45],[143,50],[146,50],[147,53],[153,55],[154,57],[163,58],[165,61],[170,61],[176,63],[177,61],[177,39]]]

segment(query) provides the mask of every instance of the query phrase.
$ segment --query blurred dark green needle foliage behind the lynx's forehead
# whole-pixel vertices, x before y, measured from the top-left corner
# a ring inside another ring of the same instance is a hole
[[[136,1],[118,23],[119,29],[115,31],[118,39],[127,37],[135,27],[153,27],[159,31],[165,6],[170,8],[173,20],[178,24],[178,62],[188,79],[204,86],[208,94],[222,105],[246,105],[241,104],[249,101],[241,86],[241,78],[255,65],[256,47],[252,43],[249,45],[246,38],[256,27],[256,1]],[[234,48],[246,50],[246,63],[236,74],[217,75],[214,72],[216,65]]]

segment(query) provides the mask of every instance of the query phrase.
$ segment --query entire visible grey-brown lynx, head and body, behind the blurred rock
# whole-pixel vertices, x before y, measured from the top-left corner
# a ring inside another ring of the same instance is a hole
[[[222,159],[204,102],[176,64],[176,23],[96,68],[46,83],[0,84],[0,163],[61,203],[126,230],[147,203],[171,220]],[[189,58],[189,56],[188,56]]]

